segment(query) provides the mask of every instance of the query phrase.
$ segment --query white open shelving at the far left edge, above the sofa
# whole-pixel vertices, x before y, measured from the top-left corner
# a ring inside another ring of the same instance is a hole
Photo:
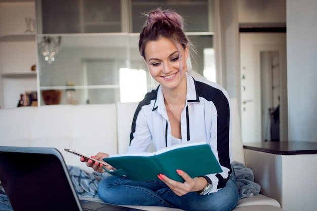
[[[35,3],[0,2],[0,106],[16,107],[20,94],[36,91]]]

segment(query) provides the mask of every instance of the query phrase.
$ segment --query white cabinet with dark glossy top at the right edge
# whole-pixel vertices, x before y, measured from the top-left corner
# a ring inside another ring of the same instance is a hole
[[[317,143],[303,141],[244,144],[246,165],[261,184],[261,193],[284,210],[316,210]]]

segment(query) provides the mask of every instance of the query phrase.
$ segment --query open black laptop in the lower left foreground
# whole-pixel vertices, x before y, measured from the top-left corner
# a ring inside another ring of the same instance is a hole
[[[80,200],[55,148],[0,146],[0,181],[14,211],[141,210]]]

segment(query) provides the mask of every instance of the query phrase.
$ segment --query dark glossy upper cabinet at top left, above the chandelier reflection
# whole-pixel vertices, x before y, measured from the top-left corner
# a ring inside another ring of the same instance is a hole
[[[39,34],[62,33],[118,33],[127,32],[128,0],[54,0],[36,1],[41,17]],[[63,7],[61,7],[63,5]]]

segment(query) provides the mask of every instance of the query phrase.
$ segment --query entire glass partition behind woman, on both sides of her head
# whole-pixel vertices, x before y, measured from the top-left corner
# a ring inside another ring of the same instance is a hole
[[[37,35],[41,105],[137,102],[158,85],[138,50],[138,34]],[[214,74],[212,35],[189,35],[192,69]],[[208,65],[206,65],[208,64]]]

